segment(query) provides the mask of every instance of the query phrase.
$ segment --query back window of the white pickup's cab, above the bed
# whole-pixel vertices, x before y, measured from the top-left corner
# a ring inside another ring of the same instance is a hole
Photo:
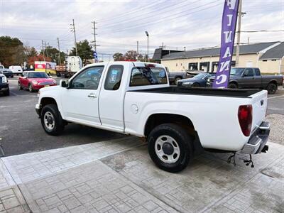
[[[168,84],[163,67],[133,67],[129,87]]]

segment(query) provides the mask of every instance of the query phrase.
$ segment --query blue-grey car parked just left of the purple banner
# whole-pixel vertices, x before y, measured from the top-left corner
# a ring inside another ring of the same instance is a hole
[[[178,87],[206,87],[209,77],[215,76],[213,72],[200,72],[192,78],[178,81]]]

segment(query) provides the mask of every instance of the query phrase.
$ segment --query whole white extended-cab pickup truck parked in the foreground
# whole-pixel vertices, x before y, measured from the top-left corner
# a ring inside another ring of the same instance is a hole
[[[154,163],[170,172],[184,169],[200,144],[250,155],[268,150],[265,90],[170,87],[160,64],[87,65],[38,97],[35,110],[46,133],[58,135],[76,123],[146,137]]]

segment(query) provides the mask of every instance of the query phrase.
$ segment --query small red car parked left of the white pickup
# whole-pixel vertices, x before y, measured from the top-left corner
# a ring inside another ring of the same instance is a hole
[[[25,71],[18,78],[18,89],[28,89],[30,92],[55,85],[56,81],[49,77],[46,72]]]

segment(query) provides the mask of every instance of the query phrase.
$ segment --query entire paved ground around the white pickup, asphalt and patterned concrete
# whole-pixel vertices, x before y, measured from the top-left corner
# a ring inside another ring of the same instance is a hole
[[[37,94],[10,84],[0,97],[0,212],[284,212],[283,90],[269,96],[270,149],[253,156],[255,168],[246,155],[234,166],[229,154],[204,152],[172,174],[133,136],[76,124],[48,136]]]

